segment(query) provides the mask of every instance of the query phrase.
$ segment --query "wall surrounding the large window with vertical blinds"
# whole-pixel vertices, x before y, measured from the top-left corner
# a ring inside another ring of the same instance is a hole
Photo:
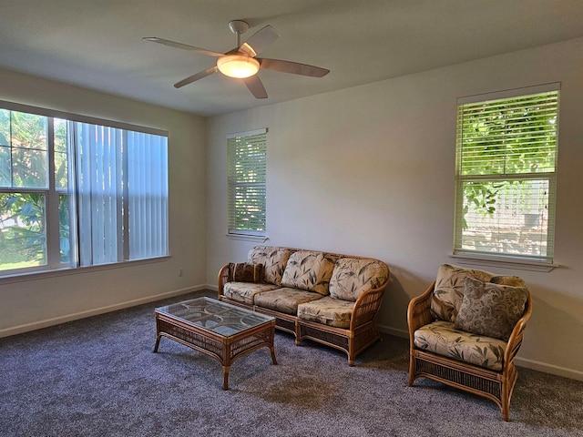
[[[0,100],[168,130],[171,254],[163,261],[115,269],[83,269],[28,280],[0,279],[0,337],[204,286],[202,117],[7,70],[0,70]],[[182,277],[179,269],[184,269]]]

